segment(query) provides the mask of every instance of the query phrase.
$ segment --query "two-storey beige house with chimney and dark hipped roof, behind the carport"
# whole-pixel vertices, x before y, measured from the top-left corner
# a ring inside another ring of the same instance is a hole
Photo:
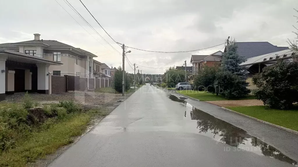
[[[93,78],[93,57],[96,55],[56,40],[40,39],[40,36],[34,34],[34,40],[4,43],[0,47],[61,63],[60,66],[49,66],[52,75]]]

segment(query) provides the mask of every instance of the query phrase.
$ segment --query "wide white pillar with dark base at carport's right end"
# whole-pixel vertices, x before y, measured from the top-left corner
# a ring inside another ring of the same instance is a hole
[[[37,64],[37,93],[49,94],[49,65]]]

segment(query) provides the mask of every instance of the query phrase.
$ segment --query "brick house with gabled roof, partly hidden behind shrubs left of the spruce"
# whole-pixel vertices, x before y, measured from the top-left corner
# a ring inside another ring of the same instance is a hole
[[[197,73],[204,64],[214,66],[220,61],[222,53],[222,51],[217,51],[210,55],[191,55],[190,63],[193,64],[193,74]]]

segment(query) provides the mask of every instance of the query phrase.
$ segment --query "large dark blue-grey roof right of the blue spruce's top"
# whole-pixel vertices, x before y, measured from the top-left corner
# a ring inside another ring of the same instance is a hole
[[[274,46],[269,42],[236,42],[238,54],[245,59],[289,49],[288,47]],[[226,48],[224,50],[226,52]]]

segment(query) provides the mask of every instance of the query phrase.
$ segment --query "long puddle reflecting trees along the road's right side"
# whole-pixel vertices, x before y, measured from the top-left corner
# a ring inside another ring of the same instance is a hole
[[[214,116],[193,107],[185,100],[181,100],[174,95],[170,95],[169,98],[173,101],[184,103],[186,105],[188,110],[183,111],[183,115],[185,118],[190,118],[187,120],[197,121],[197,129],[199,134],[211,137],[218,142],[232,146],[225,147],[225,151],[246,150],[259,155],[272,157],[294,166],[298,166],[297,161],[285,156],[279,150],[263,142],[262,140],[249,135],[245,130],[221,119],[215,118]]]

